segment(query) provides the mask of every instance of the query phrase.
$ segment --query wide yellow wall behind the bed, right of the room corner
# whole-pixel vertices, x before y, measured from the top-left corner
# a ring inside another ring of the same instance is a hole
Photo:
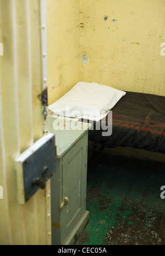
[[[79,80],[165,96],[165,1],[81,0],[81,12]]]

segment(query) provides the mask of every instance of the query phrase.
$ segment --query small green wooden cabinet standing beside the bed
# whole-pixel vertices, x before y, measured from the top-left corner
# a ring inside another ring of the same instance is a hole
[[[77,129],[73,129],[73,121],[58,123],[53,117],[49,121],[50,132],[56,134],[57,148],[56,174],[51,178],[52,244],[73,244],[89,217],[86,211],[89,124],[77,122]]]

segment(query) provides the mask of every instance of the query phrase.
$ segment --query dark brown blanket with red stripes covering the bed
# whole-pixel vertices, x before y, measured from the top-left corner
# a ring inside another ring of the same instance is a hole
[[[100,122],[108,125],[108,118]],[[112,108],[112,134],[89,130],[89,140],[107,148],[129,146],[165,153],[165,97],[127,92]]]

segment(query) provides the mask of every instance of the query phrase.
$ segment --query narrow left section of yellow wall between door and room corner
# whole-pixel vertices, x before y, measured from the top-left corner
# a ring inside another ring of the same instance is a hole
[[[48,105],[79,81],[80,1],[47,0]]]

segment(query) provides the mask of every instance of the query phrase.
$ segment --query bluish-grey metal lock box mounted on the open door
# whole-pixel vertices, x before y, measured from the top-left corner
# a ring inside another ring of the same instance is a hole
[[[26,203],[56,171],[55,135],[48,133],[15,159],[18,201]]]

